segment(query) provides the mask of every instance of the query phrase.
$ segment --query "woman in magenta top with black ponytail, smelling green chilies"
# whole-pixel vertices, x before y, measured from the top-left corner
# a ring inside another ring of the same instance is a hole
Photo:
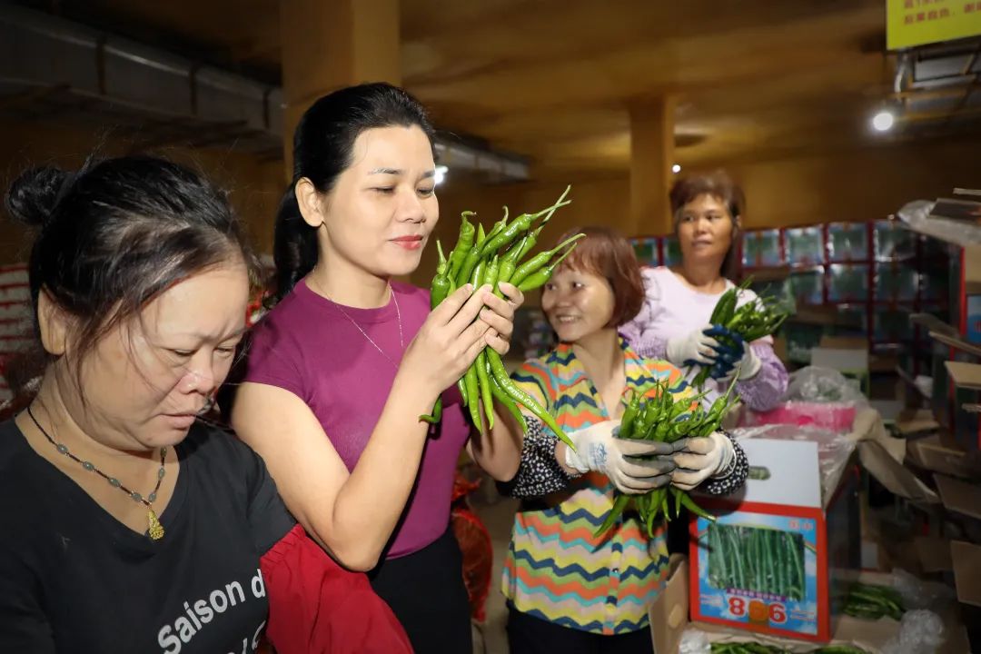
[[[510,479],[520,444],[471,436],[455,381],[485,345],[507,352],[522,294],[464,287],[431,314],[428,291],[392,280],[418,267],[439,220],[433,127],[401,89],[320,98],[296,128],[293,160],[276,226],[278,303],[254,329],[232,423],[310,536],[371,571],[416,651],[470,652],[449,530],[456,462],[466,446]],[[419,416],[440,395],[442,422],[429,428]]]

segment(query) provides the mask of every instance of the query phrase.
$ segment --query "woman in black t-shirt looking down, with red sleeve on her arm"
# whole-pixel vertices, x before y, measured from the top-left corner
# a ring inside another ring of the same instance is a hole
[[[30,171],[7,209],[37,229],[45,357],[36,396],[0,424],[0,651],[253,652],[271,616],[280,652],[328,642],[313,626],[332,619],[336,651],[407,651],[366,579],[303,549],[262,459],[198,420],[253,270],[224,196],[127,157]],[[330,587],[369,619],[325,617]]]

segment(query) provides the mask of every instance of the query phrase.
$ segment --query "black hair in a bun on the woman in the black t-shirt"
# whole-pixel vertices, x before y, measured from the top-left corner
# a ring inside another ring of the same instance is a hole
[[[79,359],[182,279],[236,261],[256,270],[225,193],[163,159],[89,161],[75,173],[28,170],[5,206],[36,231],[28,263],[35,332],[44,292],[76,321]]]

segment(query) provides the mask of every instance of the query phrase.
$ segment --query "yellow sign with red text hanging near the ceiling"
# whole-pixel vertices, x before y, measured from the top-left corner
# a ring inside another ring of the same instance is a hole
[[[979,0],[886,0],[886,46],[890,50],[979,34]]]

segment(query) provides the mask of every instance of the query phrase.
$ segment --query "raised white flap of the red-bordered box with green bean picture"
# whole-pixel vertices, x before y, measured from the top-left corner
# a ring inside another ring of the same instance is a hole
[[[739,444],[749,459],[743,501],[821,508],[817,443],[742,438]]]

